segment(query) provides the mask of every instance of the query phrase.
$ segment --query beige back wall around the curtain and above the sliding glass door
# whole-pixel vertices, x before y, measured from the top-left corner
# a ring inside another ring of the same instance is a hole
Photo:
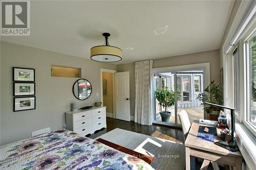
[[[153,68],[177,66],[195,63],[210,63],[210,80],[220,81],[220,52],[219,50],[212,50],[207,52],[186,54],[180,56],[166,57],[154,59]],[[130,72],[130,110],[131,116],[134,116],[135,111],[135,62],[117,65],[118,72]]]

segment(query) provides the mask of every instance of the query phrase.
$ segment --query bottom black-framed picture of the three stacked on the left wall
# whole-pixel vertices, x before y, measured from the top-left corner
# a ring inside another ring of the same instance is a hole
[[[35,109],[35,96],[13,98],[13,111],[23,111]]]

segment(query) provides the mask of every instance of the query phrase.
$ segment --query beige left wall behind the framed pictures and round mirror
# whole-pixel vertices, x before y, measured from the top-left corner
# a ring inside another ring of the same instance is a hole
[[[51,77],[51,65],[81,68],[82,78],[92,84],[90,98],[77,100],[72,86],[78,78]],[[35,110],[13,112],[14,66],[35,68]],[[71,110],[72,102],[78,102],[79,107],[99,102],[100,68],[116,69],[116,65],[1,41],[1,144],[29,138],[32,131],[43,128],[62,128],[64,113]]]

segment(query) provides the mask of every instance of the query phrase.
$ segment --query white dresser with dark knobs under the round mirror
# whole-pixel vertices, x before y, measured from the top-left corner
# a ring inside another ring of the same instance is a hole
[[[86,110],[67,111],[66,126],[70,131],[80,135],[93,134],[96,130],[106,128],[106,107],[92,107]]]

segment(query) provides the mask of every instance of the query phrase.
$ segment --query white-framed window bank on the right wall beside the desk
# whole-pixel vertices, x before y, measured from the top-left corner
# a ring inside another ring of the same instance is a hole
[[[226,56],[225,105],[236,109],[237,122],[256,137],[256,21],[252,22]],[[231,57],[231,58],[230,58]],[[231,59],[231,60],[230,60]],[[230,62],[232,61],[232,62]],[[230,64],[229,64],[230,63]],[[230,67],[232,76],[229,76]],[[233,88],[230,83],[233,83]],[[232,88],[233,91],[230,89]]]

